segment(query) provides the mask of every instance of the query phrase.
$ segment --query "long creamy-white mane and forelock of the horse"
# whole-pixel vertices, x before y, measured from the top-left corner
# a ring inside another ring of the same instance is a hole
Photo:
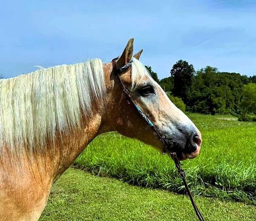
[[[134,58],[132,88],[148,75]],[[0,151],[42,152],[55,134],[80,127],[82,113],[90,116],[93,102],[106,93],[102,61],[41,68],[35,72],[0,80]]]

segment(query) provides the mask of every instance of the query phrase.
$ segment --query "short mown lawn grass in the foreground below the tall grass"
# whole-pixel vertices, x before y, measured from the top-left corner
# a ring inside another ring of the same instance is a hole
[[[195,197],[207,221],[255,220],[252,205]],[[185,195],[68,169],[52,186],[40,221],[196,221]]]

